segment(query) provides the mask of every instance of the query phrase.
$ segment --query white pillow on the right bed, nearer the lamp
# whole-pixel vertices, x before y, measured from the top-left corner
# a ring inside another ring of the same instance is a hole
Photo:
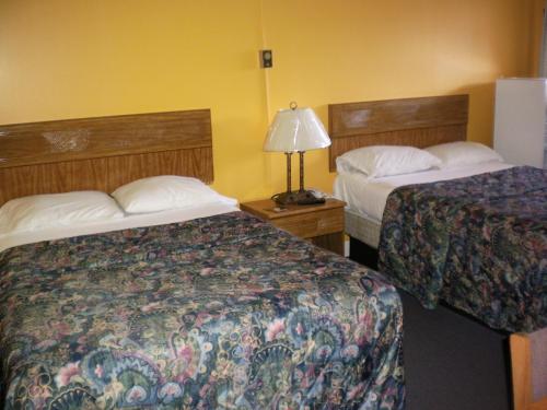
[[[441,161],[429,152],[400,145],[359,148],[336,159],[339,173],[361,172],[371,178],[416,173],[440,164]]]

